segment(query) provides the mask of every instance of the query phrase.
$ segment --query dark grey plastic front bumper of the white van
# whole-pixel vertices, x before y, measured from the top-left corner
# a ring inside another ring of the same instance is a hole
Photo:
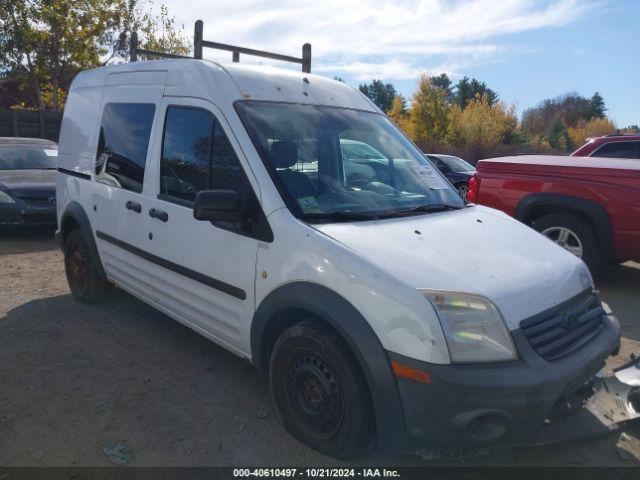
[[[429,384],[396,378],[412,451],[545,443],[540,440],[543,427],[574,413],[571,405],[584,410],[585,383],[620,345],[620,325],[613,315],[596,338],[553,362],[534,352],[520,330],[512,334],[519,359],[503,364],[435,365],[389,353],[390,360],[430,376]]]

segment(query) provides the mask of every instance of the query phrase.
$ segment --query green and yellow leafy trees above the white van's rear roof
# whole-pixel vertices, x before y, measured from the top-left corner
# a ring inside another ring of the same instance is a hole
[[[0,0],[0,97],[58,110],[75,75],[126,54],[139,29],[145,48],[189,50],[166,7],[137,0]]]

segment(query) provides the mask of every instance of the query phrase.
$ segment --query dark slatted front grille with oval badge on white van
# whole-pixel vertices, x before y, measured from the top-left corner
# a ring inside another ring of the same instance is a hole
[[[523,320],[520,327],[538,355],[553,361],[593,339],[603,327],[603,316],[598,297],[589,294],[558,312]]]

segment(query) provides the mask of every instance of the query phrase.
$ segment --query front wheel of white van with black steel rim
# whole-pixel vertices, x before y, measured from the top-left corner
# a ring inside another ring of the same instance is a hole
[[[305,321],[276,341],[269,362],[271,397],[287,431],[334,458],[372,445],[374,420],[364,375],[345,342]]]

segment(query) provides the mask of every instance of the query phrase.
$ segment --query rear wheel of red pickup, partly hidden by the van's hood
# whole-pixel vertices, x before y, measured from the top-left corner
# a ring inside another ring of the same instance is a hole
[[[600,248],[593,227],[582,218],[570,213],[551,213],[533,223],[533,227],[565,250],[581,258],[592,273],[596,273],[601,264]],[[566,242],[561,232],[568,232]],[[576,243],[577,240],[577,243]],[[578,246],[580,253],[577,253]]]

